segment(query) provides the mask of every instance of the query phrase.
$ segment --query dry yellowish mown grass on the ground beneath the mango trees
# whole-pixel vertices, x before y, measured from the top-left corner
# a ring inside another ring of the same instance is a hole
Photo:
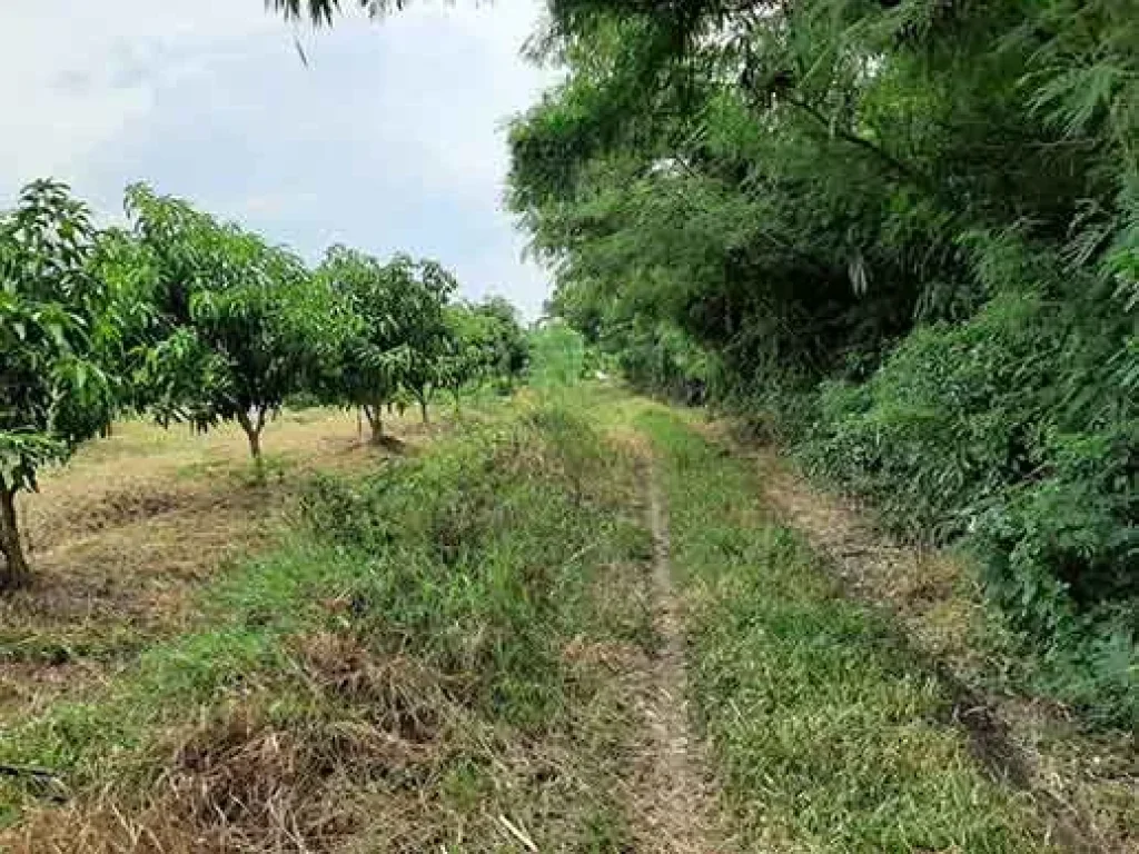
[[[439,427],[393,422],[411,446]],[[270,483],[252,482],[239,428],[116,425],[19,499],[32,588],[0,600],[0,722],[103,683],[144,644],[186,630],[192,593],[276,542],[312,470],[366,468],[377,451],[350,412],[286,412],[265,428]]]

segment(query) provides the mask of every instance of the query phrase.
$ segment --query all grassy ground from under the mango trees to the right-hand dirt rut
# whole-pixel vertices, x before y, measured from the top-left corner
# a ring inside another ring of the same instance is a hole
[[[436,420],[394,453],[286,412],[263,486],[237,430],[128,424],[46,478],[0,846],[1133,849],[1126,767],[1073,818],[978,752],[919,632],[699,413],[585,387]]]

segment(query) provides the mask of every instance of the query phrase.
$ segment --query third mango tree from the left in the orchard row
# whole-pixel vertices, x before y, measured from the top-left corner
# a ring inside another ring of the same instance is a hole
[[[333,246],[314,278],[331,305],[321,392],[359,408],[379,444],[383,409],[395,400],[411,363],[403,328],[409,303],[400,293],[409,277],[362,252]]]

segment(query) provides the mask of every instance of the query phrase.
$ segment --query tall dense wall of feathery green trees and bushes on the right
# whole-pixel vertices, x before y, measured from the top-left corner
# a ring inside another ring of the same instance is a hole
[[[1139,721],[1139,3],[551,0],[554,311],[967,545],[1023,678]]]

